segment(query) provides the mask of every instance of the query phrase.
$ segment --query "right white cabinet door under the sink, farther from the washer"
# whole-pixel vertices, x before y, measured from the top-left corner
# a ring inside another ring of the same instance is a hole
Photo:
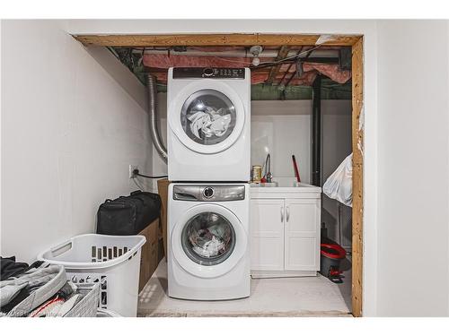
[[[285,269],[320,269],[320,200],[286,199]]]

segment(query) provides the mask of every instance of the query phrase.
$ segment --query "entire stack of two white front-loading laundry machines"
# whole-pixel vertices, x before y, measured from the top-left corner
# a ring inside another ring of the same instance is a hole
[[[168,295],[250,296],[251,74],[171,68]]]

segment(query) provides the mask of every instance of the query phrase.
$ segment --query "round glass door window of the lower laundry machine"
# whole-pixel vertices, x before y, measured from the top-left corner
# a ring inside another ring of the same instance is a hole
[[[235,231],[229,220],[216,212],[201,212],[182,229],[181,245],[195,263],[212,266],[233,253]]]

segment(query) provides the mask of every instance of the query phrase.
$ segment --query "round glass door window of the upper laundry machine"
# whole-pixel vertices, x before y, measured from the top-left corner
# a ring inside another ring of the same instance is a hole
[[[236,123],[231,99],[217,90],[198,90],[189,96],[180,111],[180,125],[194,142],[213,145],[224,142]]]

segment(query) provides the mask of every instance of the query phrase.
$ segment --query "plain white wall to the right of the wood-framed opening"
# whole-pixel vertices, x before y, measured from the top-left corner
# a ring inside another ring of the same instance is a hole
[[[379,315],[448,314],[448,31],[378,24]]]

